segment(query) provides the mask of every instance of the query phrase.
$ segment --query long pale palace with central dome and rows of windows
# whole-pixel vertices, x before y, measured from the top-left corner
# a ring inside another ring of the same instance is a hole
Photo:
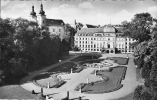
[[[121,37],[122,28],[107,25],[103,28],[82,28],[75,34],[75,46],[84,52],[132,53],[131,38]]]

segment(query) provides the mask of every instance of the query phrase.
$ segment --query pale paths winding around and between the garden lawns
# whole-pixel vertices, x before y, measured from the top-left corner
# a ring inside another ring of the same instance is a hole
[[[103,57],[105,58],[106,57],[126,57],[126,54],[104,54]],[[53,67],[63,64],[64,62],[68,62],[69,60],[73,58],[75,57],[72,57],[60,63],[54,64],[40,71],[31,73],[30,75],[24,77],[20,81],[21,87],[23,87],[24,89],[28,91],[35,90],[36,92],[40,92],[41,88],[34,85],[31,82],[31,79],[34,76],[40,74],[41,72],[47,71]],[[86,82],[87,78],[89,78],[89,81],[99,80],[99,78],[95,77],[95,75],[90,75],[90,73],[94,70],[94,68],[88,68],[88,69],[84,69],[80,73],[61,75],[62,79],[67,80],[67,83],[58,89],[55,89],[55,88],[44,89],[44,94],[46,95],[50,94],[50,96],[53,96],[54,98],[57,98],[57,99],[65,97],[67,91],[70,92],[70,99],[78,98],[79,96],[83,97],[83,99],[89,99],[89,100],[110,100],[110,99],[124,97],[125,95],[132,93],[134,89],[136,88],[136,86],[139,84],[138,82],[136,82],[136,73],[135,73],[136,69],[135,69],[135,65],[133,64],[133,57],[131,54],[129,55],[129,58],[130,58],[129,64],[126,65],[126,67],[128,68],[127,68],[125,80],[122,81],[122,84],[124,86],[117,91],[104,93],[104,94],[83,94],[78,91],[74,91],[74,88],[79,83]]]

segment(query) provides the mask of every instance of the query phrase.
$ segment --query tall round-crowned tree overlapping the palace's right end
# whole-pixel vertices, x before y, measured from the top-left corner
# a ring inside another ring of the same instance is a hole
[[[131,22],[123,22],[124,36],[129,36],[137,42],[143,42],[150,39],[150,27],[153,18],[149,13],[136,14]]]

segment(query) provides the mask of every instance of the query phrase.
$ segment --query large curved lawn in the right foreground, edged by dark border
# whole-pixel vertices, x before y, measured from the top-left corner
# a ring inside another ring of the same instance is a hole
[[[93,85],[85,85],[82,89],[83,92],[87,93],[106,93],[117,90],[121,85],[119,82],[126,70],[124,66],[118,66],[113,68],[112,72],[98,71],[97,75],[106,76],[109,78],[107,82],[94,83]]]

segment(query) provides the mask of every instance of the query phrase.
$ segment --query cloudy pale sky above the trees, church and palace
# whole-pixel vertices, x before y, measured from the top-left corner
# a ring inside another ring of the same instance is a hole
[[[28,18],[31,6],[39,14],[42,0],[2,0],[2,18]],[[135,14],[149,12],[157,18],[157,0],[43,0],[47,18],[62,19],[65,23],[104,25],[130,21]]]

